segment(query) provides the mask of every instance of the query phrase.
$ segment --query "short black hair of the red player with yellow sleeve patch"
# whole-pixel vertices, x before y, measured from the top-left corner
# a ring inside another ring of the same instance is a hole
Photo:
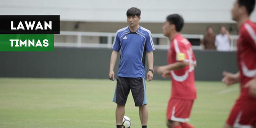
[[[172,14],[167,16],[167,21],[169,21],[170,24],[174,24],[176,31],[180,32],[184,25],[184,19],[178,15],[178,14]]]

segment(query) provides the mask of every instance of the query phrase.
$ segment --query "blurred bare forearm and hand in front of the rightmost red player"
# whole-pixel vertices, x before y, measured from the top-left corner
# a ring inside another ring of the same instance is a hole
[[[222,79],[222,82],[224,82],[228,86],[238,83],[240,81],[240,72],[239,71],[235,74],[224,71],[223,76],[224,76],[224,78]]]

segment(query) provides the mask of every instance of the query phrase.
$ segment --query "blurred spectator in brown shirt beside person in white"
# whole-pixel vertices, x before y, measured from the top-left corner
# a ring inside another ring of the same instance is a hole
[[[203,49],[216,49],[214,44],[215,36],[212,26],[208,26],[202,42]]]

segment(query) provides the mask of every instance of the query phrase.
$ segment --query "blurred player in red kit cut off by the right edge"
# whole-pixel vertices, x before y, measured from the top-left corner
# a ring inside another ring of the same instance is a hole
[[[255,128],[256,123],[256,24],[250,20],[255,0],[236,0],[232,18],[237,21],[239,72],[224,72],[222,81],[232,85],[240,81],[241,92],[224,128]]]

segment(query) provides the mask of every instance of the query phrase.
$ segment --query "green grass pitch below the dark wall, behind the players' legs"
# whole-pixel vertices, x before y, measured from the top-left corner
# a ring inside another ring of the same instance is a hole
[[[0,78],[0,128],[115,128],[115,83],[103,79]],[[238,85],[197,81],[190,123],[221,128],[239,94]],[[146,83],[148,128],[165,128],[170,81]],[[131,93],[125,115],[141,128]]]

